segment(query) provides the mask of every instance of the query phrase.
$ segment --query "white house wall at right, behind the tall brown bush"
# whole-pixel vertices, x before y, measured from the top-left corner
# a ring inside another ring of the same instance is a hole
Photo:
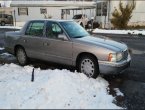
[[[118,9],[120,0],[95,0],[96,1],[96,21],[102,27],[110,28],[110,19],[115,8]],[[136,7],[132,13],[129,25],[145,25],[145,0],[134,0]],[[123,4],[130,3],[132,0],[122,0]]]

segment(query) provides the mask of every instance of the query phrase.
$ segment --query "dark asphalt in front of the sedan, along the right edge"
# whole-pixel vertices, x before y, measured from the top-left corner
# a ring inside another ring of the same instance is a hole
[[[124,42],[131,50],[131,66],[120,75],[121,80],[109,78],[114,87],[125,95],[128,109],[145,109],[145,36],[103,34],[108,39]],[[95,34],[95,36],[97,36]]]

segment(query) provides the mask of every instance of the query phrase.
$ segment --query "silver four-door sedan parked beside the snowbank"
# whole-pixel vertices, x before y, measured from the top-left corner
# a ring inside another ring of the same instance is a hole
[[[91,36],[74,21],[31,20],[18,32],[7,32],[5,49],[20,65],[30,58],[75,66],[96,78],[99,73],[119,74],[130,65],[128,47]]]

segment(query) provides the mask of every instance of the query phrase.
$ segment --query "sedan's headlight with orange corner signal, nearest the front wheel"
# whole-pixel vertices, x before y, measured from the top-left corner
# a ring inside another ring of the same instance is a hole
[[[122,53],[110,53],[108,55],[108,61],[110,62],[118,62],[123,58]]]

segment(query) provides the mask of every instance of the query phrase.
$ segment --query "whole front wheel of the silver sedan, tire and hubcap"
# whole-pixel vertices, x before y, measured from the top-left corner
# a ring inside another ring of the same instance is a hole
[[[95,57],[86,55],[80,58],[78,70],[89,78],[97,78],[99,75],[99,65]]]

